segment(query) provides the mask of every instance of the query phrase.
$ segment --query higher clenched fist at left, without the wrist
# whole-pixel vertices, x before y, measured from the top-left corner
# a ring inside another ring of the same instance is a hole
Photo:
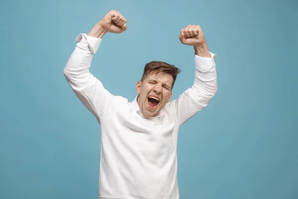
[[[119,11],[109,11],[100,21],[99,25],[106,31],[112,33],[121,33],[127,30],[126,19]]]

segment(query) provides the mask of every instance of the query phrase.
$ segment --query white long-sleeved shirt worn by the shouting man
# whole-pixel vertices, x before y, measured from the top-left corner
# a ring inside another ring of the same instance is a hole
[[[195,55],[194,85],[167,103],[156,117],[110,94],[89,72],[102,39],[80,34],[64,69],[78,99],[101,127],[99,198],[179,199],[177,136],[181,124],[208,105],[217,92],[214,59]]]

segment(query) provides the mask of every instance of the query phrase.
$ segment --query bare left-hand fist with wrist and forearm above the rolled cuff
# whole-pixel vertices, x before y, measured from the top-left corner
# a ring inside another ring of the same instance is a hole
[[[107,32],[121,33],[127,30],[126,19],[119,11],[109,11],[88,33],[89,36],[102,38]]]

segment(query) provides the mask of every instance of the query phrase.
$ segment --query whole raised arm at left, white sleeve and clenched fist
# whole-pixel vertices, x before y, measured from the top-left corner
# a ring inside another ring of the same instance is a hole
[[[80,34],[75,39],[76,47],[64,69],[75,95],[97,119],[113,110],[115,97],[89,72],[91,61],[105,33],[121,33],[126,29],[121,13],[109,11],[87,35]]]

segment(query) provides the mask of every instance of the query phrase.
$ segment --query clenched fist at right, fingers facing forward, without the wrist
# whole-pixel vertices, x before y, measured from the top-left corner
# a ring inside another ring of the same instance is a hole
[[[204,44],[205,36],[199,25],[188,25],[180,31],[179,39],[181,43],[190,46],[200,46]]]

